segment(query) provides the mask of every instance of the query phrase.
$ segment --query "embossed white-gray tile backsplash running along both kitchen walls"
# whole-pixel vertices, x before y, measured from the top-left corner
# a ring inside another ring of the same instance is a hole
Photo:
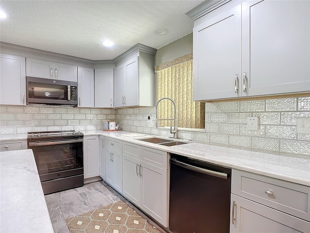
[[[148,120],[151,116],[151,120]],[[260,127],[248,131],[247,117]],[[310,97],[236,100],[205,104],[205,131],[178,131],[180,138],[243,148],[310,155],[310,134],[296,133],[296,117],[310,117]],[[173,136],[155,128],[155,107],[93,109],[58,106],[0,106],[0,133],[47,130],[100,130],[115,120],[125,131]]]

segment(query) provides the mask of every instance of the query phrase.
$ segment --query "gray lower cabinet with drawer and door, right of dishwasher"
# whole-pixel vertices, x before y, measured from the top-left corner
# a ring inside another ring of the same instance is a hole
[[[309,233],[310,187],[232,170],[231,233]]]

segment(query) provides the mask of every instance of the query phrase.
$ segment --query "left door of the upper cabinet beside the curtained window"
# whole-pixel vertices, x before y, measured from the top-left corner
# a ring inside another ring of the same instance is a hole
[[[114,107],[123,107],[127,85],[124,65],[115,67],[114,83]]]

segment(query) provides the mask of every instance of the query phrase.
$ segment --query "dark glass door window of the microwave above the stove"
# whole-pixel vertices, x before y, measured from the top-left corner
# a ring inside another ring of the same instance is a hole
[[[66,100],[67,86],[49,83],[30,83],[28,85],[29,98]]]

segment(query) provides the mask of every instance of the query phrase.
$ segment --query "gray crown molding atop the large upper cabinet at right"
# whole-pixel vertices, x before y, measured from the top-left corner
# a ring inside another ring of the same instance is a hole
[[[205,0],[191,10],[187,11],[185,14],[192,20],[196,20],[197,18],[202,17],[229,1],[231,0]]]

